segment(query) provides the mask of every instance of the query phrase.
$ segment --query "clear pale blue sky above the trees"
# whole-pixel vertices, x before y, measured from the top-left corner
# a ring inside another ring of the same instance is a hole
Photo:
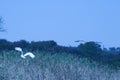
[[[120,0],[0,0],[0,16],[7,29],[1,39],[120,46]]]

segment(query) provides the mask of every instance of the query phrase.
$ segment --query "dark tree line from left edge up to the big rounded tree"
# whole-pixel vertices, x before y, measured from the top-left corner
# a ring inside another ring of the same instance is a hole
[[[76,53],[75,47],[59,46],[53,40],[49,41],[31,41],[26,40],[10,42],[5,39],[0,39],[0,51],[14,50],[15,47],[21,47],[23,50],[29,51],[46,51],[46,52],[67,52]]]

